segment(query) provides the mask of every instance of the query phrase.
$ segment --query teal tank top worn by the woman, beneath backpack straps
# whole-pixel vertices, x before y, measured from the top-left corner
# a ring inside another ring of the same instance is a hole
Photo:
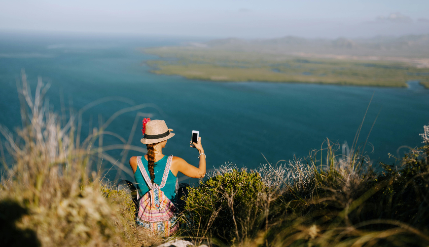
[[[156,184],[160,185],[162,181],[162,176],[164,175],[165,166],[167,165],[168,156],[164,155],[164,157],[155,162],[153,164],[153,170],[155,173],[155,179],[153,180]],[[147,160],[142,156],[142,164],[144,169],[147,172],[147,175],[149,175],[149,170],[147,169]],[[149,175],[150,177],[150,175]],[[142,172],[140,171],[139,167],[137,167],[136,172],[134,173],[134,179],[137,183],[137,188],[139,189],[139,195],[142,197],[144,194],[146,194],[150,188],[147,186],[146,182],[144,181]],[[168,171],[167,176],[167,182],[165,183],[164,188],[161,190],[164,192],[164,194],[172,201],[176,201],[176,179],[177,177],[171,172],[171,170]]]

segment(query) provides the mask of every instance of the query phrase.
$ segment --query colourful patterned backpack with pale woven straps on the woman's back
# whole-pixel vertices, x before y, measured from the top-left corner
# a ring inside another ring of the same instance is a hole
[[[152,232],[162,233],[165,237],[169,237],[179,229],[179,225],[176,224],[176,206],[174,206],[171,200],[161,190],[167,182],[172,159],[173,155],[168,157],[161,184],[157,185],[156,183],[151,183],[146,169],[143,167],[142,157],[137,157],[137,164],[150,190],[144,194],[139,201],[139,212],[136,217],[136,222],[138,225]],[[176,191],[178,187],[178,180],[176,179]],[[139,196],[139,193],[137,193],[137,195]]]

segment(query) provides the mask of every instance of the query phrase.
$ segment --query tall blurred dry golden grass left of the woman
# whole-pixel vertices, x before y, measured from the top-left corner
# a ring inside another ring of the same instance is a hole
[[[150,246],[163,242],[135,226],[135,207],[129,195],[116,191],[102,174],[91,170],[99,154],[108,157],[102,147],[91,148],[104,134],[103,128],[80,142],[75,123],[80,123],[81,112],[78,118],[71,112],[68,122],[62,124],[63,118],[49,109],[44,98],[48,88],[39,78],[33,96],[23,73],[18,91],[24,127],[12,133],[0,125],[4,141],[0,142],[1,242],[7,246]]]

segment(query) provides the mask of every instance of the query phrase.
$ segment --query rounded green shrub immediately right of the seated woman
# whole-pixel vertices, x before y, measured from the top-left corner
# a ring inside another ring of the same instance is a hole
[[[198,187],[189,188],[184,221],[191,229],[203,229],[203,234],[229,241],[250,234],[257,223],[255,219],[263,212],[260,194],[264,184],[254,170],[222,172],[226,167]]]

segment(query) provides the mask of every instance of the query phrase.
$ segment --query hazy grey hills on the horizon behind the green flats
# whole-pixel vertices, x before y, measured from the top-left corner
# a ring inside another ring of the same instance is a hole
[[[194,43],[195,44],[195,43]],[[401,37],[378,36],[370,39],[304,39],[286,36],[268,40],[243,40],[237,38],[213,40],[203,47],[234,51],[257,51],[264,53],[296,52],[351,56],[392,56],[429,58],[429,35]]]

